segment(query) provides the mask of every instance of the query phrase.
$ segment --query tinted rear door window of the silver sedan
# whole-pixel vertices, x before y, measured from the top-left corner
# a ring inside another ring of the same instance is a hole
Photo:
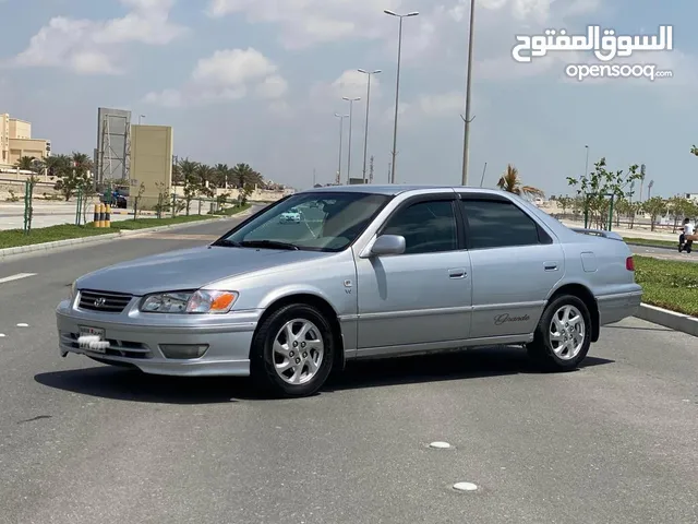
[[[508,202],[465,200],[472,249],[539,243],[535,223]]]

